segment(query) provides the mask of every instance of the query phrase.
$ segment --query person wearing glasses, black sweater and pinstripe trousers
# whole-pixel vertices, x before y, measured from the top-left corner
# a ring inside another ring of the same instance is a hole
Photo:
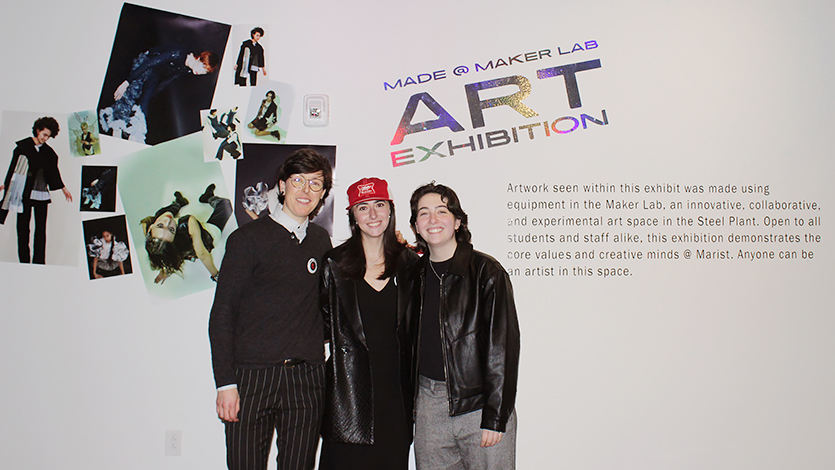
[[[226,242],[209,318],[217,415],[230,469],[312,469],[325,390],[320,262],[331,241],[310,220],[331,189],[330,163],[311,149],[278,170],[281,210]]]

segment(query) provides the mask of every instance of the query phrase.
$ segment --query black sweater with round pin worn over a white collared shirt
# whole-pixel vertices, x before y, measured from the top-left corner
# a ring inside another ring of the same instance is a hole
[[[269,217],[229,236],[209,319],[218,387],[236,383],[236,368],[324,362],[319,265],[330,248],[322,227],[308,225],[299,244]]]

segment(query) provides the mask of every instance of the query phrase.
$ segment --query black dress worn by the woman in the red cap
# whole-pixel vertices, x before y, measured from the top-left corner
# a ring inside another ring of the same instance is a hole
[[[322,441],[319,470],[408,470],[411,429],[400,391],[397,343],[397,286],[389,280],[380,292],[357,284],[374,390],[374,444]]]

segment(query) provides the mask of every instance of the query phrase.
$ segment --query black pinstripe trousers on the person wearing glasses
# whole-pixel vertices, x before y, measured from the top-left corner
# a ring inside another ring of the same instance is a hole
[[[239,369],[238,421],[226,423],[230,470],[264,470],[273,430],[278,470],[312,470],[319,445],[325,365]]]

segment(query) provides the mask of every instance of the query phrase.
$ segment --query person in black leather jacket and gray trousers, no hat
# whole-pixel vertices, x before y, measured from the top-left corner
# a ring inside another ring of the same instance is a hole
[[[424,253],[407,315],[417,468],[513,469],[520,346],[510,278],[473,249],[451,188],[417,188],[410,223]]]

